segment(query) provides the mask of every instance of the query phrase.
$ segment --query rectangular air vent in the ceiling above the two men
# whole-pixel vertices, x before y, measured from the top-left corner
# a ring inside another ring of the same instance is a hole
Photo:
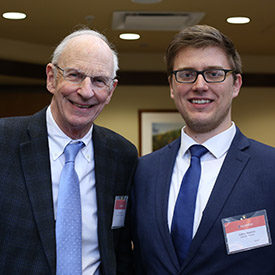
[[[178,31],[198,24],[203,12],[130,12],[113,13],[115,30]]]

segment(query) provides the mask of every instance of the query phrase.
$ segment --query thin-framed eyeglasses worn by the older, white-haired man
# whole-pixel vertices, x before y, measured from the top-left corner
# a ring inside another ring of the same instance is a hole
[[[72,68],[62,69],[57,64],[54,64],[54,66],[62,72],[63,78],[65,80],[75,84],[80,84],[81,82],[84,81],[84,79],[86,79],[86,77],[89,77],[94,87],[100,90],[105,90],[105,89],[109,89],[111,86],[111,83],[114,81],[114,79],[110,77],[90,76],[90,75],[84,74],[83,72],[77,69],[72,69]]]

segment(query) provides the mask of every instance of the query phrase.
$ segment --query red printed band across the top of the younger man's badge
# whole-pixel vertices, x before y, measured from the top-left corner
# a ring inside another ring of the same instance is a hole
[[[257,216],[257,217],[239,220],[235,222],[228,222],[224,224],[224,227],[225,227],[226,233],[228,234],[228,233],[232,233],[240,230],[251,229],[258,226],[264,226],[265,224],[266,224],[265,218],[264,218],[264,215],[262,215],[262,216]]]

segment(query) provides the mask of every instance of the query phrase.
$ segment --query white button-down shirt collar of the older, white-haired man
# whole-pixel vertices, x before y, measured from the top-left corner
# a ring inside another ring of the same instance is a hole
[[[72,141],[72,139],[68,137],[58,127],[57,123],[53,118],[53,115],[51,112],[51,106],[49,106],[47,109],[46,121],[47,121],[48,137],[49,137],[50,154],[52,155],[52,158],[56,160],[63,154],[65,147]],[[93,125],[83,138],[78,140],[73,140],[73,141],[82,141],[85,144],[85,147],[81,151],[83,152],[84,157],[88,161],[90,161],[91,154],[89,154],[87,150],[90,147],[90,143],[92,143],[92,131],[93,131]]]

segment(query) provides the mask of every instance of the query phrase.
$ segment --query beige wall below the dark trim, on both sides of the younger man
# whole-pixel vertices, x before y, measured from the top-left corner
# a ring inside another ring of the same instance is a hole
[[[232,117],[248,137],[275,146],[275,88],[242,88]],[[137,147],[138,110],[174,109],[168,86],[121,86],[96,123],[121,133]]]

